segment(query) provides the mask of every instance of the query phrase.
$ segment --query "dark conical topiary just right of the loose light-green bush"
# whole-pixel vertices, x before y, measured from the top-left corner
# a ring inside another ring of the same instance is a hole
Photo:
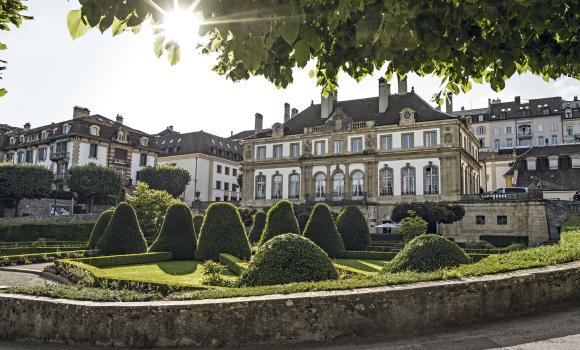
[[[150,252],[171,252],[173,259],[193,259],[197,242],[193,231],[193,218],[187,205],[173,204],[167,209],[161,232]]]

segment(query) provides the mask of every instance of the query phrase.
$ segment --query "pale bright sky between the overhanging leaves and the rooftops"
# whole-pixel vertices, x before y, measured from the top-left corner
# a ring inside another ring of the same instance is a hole
[[[74,105],[87,107],[149,133],[168,125],[189,132],[204,130],[220,136],[230,131],[252,129],[254,114],[264,115],[264,127],[283,119],[283,104],[302,110],[310,101],[320,102],[320,88],[308,76],[310,68],[295,71],[295,82],[277,89],[261,77],[233,83],[211,71],[212,57],[184,50],[182,60],[171,67],[165,57],[153,53],[153,37],[146,30],[139,35],[92,30],[72,40],[66,28],[69,10],[79,7],[77,0],[30,0],[33,21],[19,29],[1,32],[8,50],[0,58],[8,60],[8,70],[0,86],[9,90],[0,98],[0,123],[32,127],[72,117]],[[378,94],[380,73],[360,83],[341,76],[338,99],[365,98]],[[391,82],[396,92],[396,82]],[[439,88],[432,77],[409,77],[409,89],[426,100]],[[510,79],[498,93],[487,85],[474,85],[467,94],[454,97],[456,110],[461,106],[478,108],[488,98],[512,100],[580,95],[580,81],[560,78],[545,83],[532,75]]]

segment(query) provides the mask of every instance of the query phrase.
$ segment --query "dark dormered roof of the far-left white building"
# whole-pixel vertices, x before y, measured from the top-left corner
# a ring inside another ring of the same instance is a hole
[[[63,132],[63,126],[69,124],[71,126],[68,133]],[[99,136],[90,134],[90,127],[92,125],[99,126]],[[48,144],[54,142],[55,140],[68,138],[72,136],[85,136],[95,140],[111,141],[116,139],[119,130],[124,130],[127,132],[127,144],[134,147],[142,147],[140,139],[142,137],[147,137],[149,139],[149,145],[153,142],[153,137],[143,131],[130,128],[122,123],[118,123],[109,118],[103,117],[100,114],[93,114],[85,117],[77,117],[69,120],[65,120],[59,123],[52,123],[48,125],[43,125],[30,129],[28,131],[23,131],[21,129],[7,132],[4,134],[4,140],[0,139],[0,148],[2,149],[17,149],[30,146],[36,146],[41,144]],[[46,139],[40,139],[40,133],[42,131],[47,131],[49,133]],[[20,136],[25,137],[32,134],[39,134],[39,137],[35,141],[20,142]],[[16,138],[16,143],[11,145],[9,143],[10,137]]]

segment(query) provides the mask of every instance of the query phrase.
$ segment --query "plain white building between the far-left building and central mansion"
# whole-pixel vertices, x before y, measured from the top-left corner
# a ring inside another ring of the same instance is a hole
[[[204,131],[181,134],[170,126],[155,136],[155,146],[160,150],[159,164],[189,171],[191,182],[183,195],[186,203],[194,206],[196,199],[203,203],[241,199],[242,146],[238,141]]]

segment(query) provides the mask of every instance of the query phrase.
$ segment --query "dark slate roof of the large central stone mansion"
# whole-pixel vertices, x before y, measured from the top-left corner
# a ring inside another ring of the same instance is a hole
[[[379,98],[369,97],[356,100],[339,101],[334,104],[334,111],[342,112],[352,118],[353,122],[374,120],[375,125],[397,125],[400,121],[400,112],[403,108],[415,111],[415,121],[427,122],[436,120],[453,120],[457,117],[443,113],[423,100],[414,91],[406,94],[389,96],[389,105],[385,112],[379,113]],[[327,121],[320,116],[320,104],[312,104],[295,117],[283,124],[284,135],[302,134],[304,128],[321,126]],[[272,135],[272,130],[265,130],[249,138],[263,138]]]

